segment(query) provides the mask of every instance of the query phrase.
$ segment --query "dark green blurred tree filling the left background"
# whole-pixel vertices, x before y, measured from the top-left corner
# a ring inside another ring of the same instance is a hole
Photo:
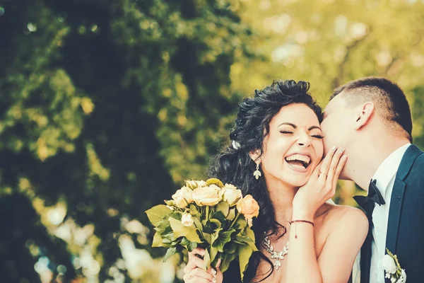
[[[122,258],[121,234],[150,250],[122,219],[146,223],[144,211],[183,178],[204,177],[237,103],[230,66],[249,56],[238,8],[206,0],[1,2],[2,280],[39,281],[34,265],[45,256],[56,274],[66,267],[68,279],[82,275],[75,247],[43,219],[58,203],[64,221],[93,225],[100,282]]]

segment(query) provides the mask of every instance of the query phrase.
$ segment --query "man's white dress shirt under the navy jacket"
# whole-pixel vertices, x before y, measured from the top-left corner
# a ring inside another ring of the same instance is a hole
[[[379,192],[382,193],[386,204],[375,204],[374,211],[372,212],[372,223],[374,224],[372,226],[372,237],[374,241],[371,244],[371,283],[384,283],[384,270],[380,265],[380,261],[386,253],[387,222],[389,220],[391,192],[401,160],[410,145],[405,144],[399,147],[399,149],[396,149],[396,151],[393,151],[384,159],[383,163],[375,171],[374,176],[372,176],[372,179],[377,179],[376,185]]]

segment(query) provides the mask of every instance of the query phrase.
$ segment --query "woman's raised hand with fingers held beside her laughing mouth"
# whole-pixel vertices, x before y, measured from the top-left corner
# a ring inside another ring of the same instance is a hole
[[[299,188],[293,199],[293,220],[312,221],[317,209],[334,196],[338,175],[348,159],[343,152],[343,148],[334,146],[314,169],[310,180]]]

